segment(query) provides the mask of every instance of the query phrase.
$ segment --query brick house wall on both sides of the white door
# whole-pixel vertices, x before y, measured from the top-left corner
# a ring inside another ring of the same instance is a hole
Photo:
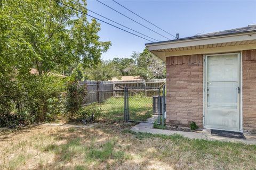
[[[243,131],[256,133],[256,49],[242,52]],[[166,124],[203,127],[203,54],[166,58]]]

